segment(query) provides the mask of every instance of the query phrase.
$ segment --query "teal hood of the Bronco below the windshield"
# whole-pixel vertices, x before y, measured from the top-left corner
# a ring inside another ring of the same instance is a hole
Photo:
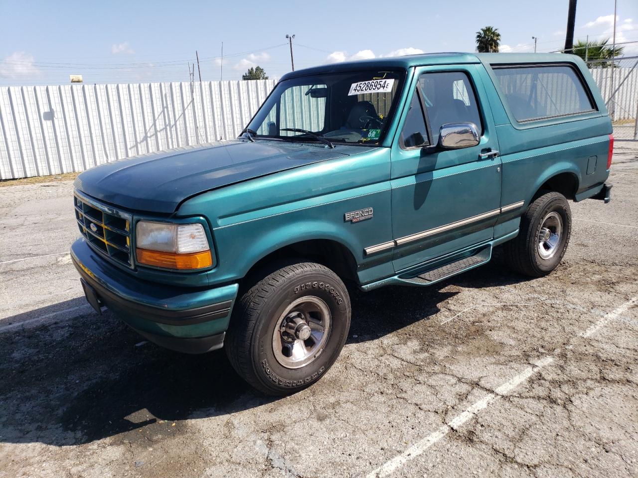
[[[113,205],[170,214],[200,192],[361,151],[348,145],[220,141],[102,164],[79,175],[75,187]]]

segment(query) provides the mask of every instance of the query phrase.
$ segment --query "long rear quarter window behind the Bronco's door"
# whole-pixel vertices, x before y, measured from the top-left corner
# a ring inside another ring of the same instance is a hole
[[[569,65],[492,65],[510,112],[518,122],[595,110],[590,92]]]

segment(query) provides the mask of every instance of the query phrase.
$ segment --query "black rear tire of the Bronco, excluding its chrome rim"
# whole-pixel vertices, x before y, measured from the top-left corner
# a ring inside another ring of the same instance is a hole
[[[558,248],[552,257],[544,259],[538,251],[539,234],[548,214],[556,212],[562,220]],[[521,217],[516,238],[503,245],[505,262],[512,270],[530,277],[542,277],[552,272],[565,255],[572,231],[572,212],[567,198],[560,192],[544,192],[535,199]]]

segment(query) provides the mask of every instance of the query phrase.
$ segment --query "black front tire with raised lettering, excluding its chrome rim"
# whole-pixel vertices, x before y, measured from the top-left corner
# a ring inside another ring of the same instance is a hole
[[[225,349],[233,368],[267,395],[290,395],[311,386],[332,366],[350,330],[350,297],[329,268],[311,262],[278,264],[249,279],[237,300]],[[322,352],[301,368],[286,368],[275,357],[273,333],[288,305],[303,296],[320,298],[330,310]]]

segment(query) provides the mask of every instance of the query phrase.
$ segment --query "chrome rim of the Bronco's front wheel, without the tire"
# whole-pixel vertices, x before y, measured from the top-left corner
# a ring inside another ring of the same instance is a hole
[[[320,356],[330,334],[330,308],[315,296],[293,301],[279,316],[272,351],[279,364],[300,368]]]

